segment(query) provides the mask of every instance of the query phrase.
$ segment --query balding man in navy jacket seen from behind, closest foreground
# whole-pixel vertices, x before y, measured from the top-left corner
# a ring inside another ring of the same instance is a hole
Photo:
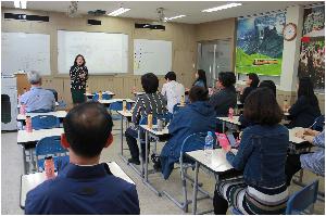
[[[112,141],[112,118],[106,109],[88,102],[66,115],[61,143],[70,152],[70,164],[26,196],[25,214],[33,215],[136,215],[136,186],[99,164],[103,148]]]

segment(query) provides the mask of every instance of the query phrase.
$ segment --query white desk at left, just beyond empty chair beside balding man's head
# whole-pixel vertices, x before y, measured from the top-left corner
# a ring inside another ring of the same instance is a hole
[[[35,144],[37,141],[41,140],[42,138],[61,136],[62,134],[64,134],[63,128],[40,129],[40,130],[34,129],[33,132],[26,132],[26,130],[18,130],[17,143],[21,144],[23,148],[24,174],[27,174],[25,145],[29,143]],[[32,148],[29,148],[29,155],[30,155],[30,160],[33,161]]]

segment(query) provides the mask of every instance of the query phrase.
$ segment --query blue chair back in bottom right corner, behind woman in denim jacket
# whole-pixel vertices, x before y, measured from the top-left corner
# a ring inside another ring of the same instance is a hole
[[[287,215],[299,215],[317,200],[318,180],[293,193],[287,202]]]

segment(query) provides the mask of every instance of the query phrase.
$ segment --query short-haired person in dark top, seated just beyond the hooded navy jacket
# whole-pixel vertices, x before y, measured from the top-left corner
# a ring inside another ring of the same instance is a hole
[[[227,116],[228,109],[236,107],[237,92],[235,84],[236,76],[233,72],[221,72],[218,74],[216,87],[220,90],[210,99],[210,104],[215,109],[217,116]]]

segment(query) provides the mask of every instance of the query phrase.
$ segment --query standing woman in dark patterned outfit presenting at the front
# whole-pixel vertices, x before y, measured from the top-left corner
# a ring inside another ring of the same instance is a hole
[[[88,79],[88,69],[82,54],[75,58],[74,65],[71,67],[71,90],[74,105],[86,101],[86,80]]]

